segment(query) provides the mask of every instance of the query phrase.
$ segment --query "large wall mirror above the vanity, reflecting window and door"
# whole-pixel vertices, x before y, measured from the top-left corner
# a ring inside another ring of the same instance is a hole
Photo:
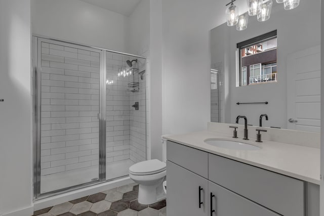
[[[237,44],[274,30],[277,80],[240,86]],[[265,127],[319,132],[319,100],[319,0],[302,0],[290,11],[273,1],[271,17],[265,22],[254,16],[242,31],[226,23],[211,30],[211,121],[235,123],[237,115],[245,115],[248,124],[259,126],[260,115],[267,114],[268,120],[262,119]]]

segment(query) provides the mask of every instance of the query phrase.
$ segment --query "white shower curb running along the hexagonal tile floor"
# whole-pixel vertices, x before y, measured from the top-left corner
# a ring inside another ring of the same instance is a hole
[[[77,199],[80,197],[88,196],[91,194],[99,193],[101,191],[109,190],[112,188],[116,188],[119,186],[127,185],[133,183],[133,180],[131,180],[129,177],[125,177],[123,179],[118,179],[118,180],[113,180],[110,182],[98,184],[95,186],[90,186],[87,188],[71,191],[68,193],[64,194],[59,194],[56,196],[44,198],[44,199],[39,199],[34,201],[34,208],[33,210],[39,210],[43,208],[47,208],[53,205],[57,205],[63,202],[67,202],[69,200]],[[23,216],[26,216],[27,214],[24,214]],[[31,215],[31,214],[30,214]],[[6,215],[7,216],[7,215]],[[10,215],[10,216],[18,216],[17,215]],[[20,215],[19,215],[20,216]]]

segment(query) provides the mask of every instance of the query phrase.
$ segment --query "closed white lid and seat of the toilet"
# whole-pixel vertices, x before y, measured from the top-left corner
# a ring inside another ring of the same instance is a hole
[[[145,160],[135,163],[130,167],[130,174],[133,175],[152,175],[166,170],[166,163],[157,159]]]

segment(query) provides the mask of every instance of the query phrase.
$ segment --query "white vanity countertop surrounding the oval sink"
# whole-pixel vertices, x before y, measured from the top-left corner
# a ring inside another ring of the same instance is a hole
[[[213,131],[167,135],[164,136],[164,138],[195,149],[254,165],[313,184],[319,185],[320,183],[320,150],[318,148],[267,140],[263,140],[262,143],[257,143],[254,139],[235,139],[228,134]],[[207,139],[239,141],[259,146],[261,149],[252,151],[225,149],[206,144],[204,141]]]

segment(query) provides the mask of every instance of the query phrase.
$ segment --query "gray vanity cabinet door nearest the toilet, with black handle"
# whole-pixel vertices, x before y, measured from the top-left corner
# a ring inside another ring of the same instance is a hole
[[[200,208],[199,208],[199,186]],[[173,216],[208,216],[208,181],[167,161],[167,212]]]

